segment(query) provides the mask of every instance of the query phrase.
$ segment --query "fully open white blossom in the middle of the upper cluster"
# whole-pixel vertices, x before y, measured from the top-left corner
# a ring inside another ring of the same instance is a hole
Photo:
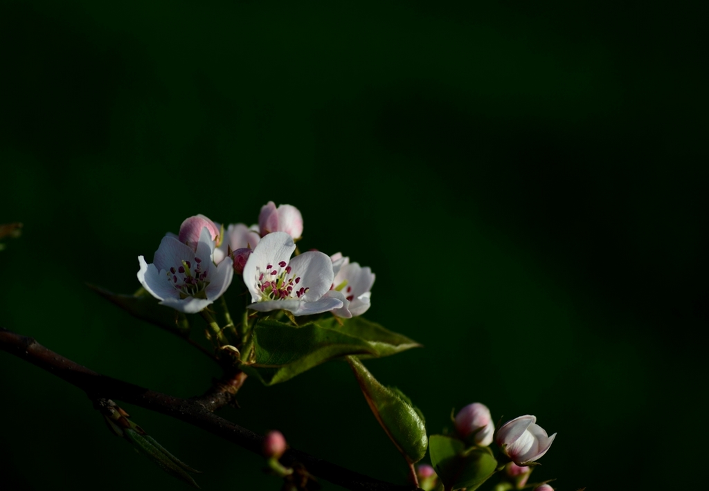
[[[244,266],[244,283],[253,302],[248,308],[309,315],[342,307],[340,298],[325,295],[334,278],[330,258],[308,251],[291,259],[295,249],[293,237],[286,232],[262,237]]]

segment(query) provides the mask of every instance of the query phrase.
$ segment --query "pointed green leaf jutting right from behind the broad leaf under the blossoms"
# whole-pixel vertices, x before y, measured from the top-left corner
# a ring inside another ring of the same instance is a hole
[[[376,351],[374,355],[359,356],[360,359],[389,356],[411,348],[419,348],[421,345],[403,334],[391,332],[384,329],[379,324],[364,319],[362,316],[350,319],[330,317],[329,319],[316,322],[321,327],[334,329],[336,331],[350,334],[369,343]]]

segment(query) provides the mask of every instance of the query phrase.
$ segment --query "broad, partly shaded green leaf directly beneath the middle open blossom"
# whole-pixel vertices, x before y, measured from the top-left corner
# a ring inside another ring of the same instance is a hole
[[[318,324],[295,327],[276,320],[260,320],[252,334],[253,363],[242,368],[265,385],[284,382],[342,356],[376,355],[376,350],[362,339]]]

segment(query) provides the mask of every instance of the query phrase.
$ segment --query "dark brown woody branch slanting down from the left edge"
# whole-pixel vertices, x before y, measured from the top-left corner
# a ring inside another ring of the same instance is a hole
[[[262,442],[264,439],[262,435],[255,434],[249,429],[220,418],[212,412],[229,402],[230,397],[225,394],[233,396],[235,390],[233,393],[230,390],[226,393],[223,390],[221,392],[219,390],[210,391],[202,397],[192,399],[172,397],[171,395],[157,393],[139,385],[96,373],[45,348],[33,338],[24,337],[2,328],[0,328],[0,349],[66,380],[84,390],[86,395],[92,400],[97,398],[123,400],[147,410],[167,414],[186,423],[194,424],[196,427],[209,431],[249,451],[259,455],[262,454]],[[236,374],[231,379],[231,385],[240,387],[244,379],[245,375]],[[238,387],[235,388],[238,389]],[[218,393],[221,395],[218,395]],[[370,478],[367,475],[323,461],[294,448],[289,448],[284,453],[281,462],[289,466],[299,462],[305,465],[309,473],[348,490],[415,491],[418,489],[413,485],[395,485]]]

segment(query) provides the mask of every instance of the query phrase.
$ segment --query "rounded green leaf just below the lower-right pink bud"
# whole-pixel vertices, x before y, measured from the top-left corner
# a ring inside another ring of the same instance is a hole
[[[438,477],[447,490],[462,487],[477,489],[497,468],[497,461],[489,448],[471,447],[466,450],[459,439],[444,435],[431,435],[428,452]]]

